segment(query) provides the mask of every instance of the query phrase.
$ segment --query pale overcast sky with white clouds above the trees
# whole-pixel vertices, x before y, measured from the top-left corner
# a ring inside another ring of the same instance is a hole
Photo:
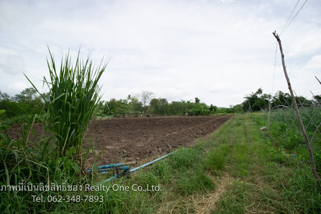
[[[198,97],[229,107],[259,88],[289,92],[272,35],[285,27],[292,88],[311,99],[321,94],[321,1],[304,2],[0,0],[0,90],[14,96],[32,87],[26,74],[48,92],[48,47],[58,65],[68,51],[75,62],[80,49],[96,67],[108,62],[102,100],[151,91],[169,102]]]

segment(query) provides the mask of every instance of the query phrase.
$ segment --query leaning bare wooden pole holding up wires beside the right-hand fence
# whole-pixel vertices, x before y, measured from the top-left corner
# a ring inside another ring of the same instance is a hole
[[[300,124],[300,127],[301,127],[301,131],[302,131],[302,134],[303,134],[303,137],[304,137],[304,140],[305,140],[305,143],[307,145],[307,149],[308,149],[308,152],[309,152],[309,155],[310,155],[312,173],[313,173],[314,178],[316,179],[316,183],[317,183],[318,187],[321,188],[320,181],[319,181],[317,173],[316,173],[316,168],[315,168],[315,163],[314,163],[314,157],[313,157],[311,144],[310,144],[310,142],[309,142],[309,140],[307,138],[307,135],[306,135],[306,132],[305,132],[305,128],[304,128],[304,125],[302,123],[302,119],[301,119],[301,116],[300,116],[300,113],[299,113],[299,109],[297,108],[297,104],[296,104],[296,100],[295,100],[295,97],[294,97],[294,94],[293,94],[293,90],[292,90],[292,87],[291,87],[290,79],[287,76],[286,67],[285,67],[285,63],[284,63],[284,54],[283,54],[283,50],[282,50],[282,46],[281,46],[281,40],[280,40],[279,36],[277,34],[275,34],[275,31],[272,34],[276,38],[276,40],[277,40],[277,42],[279,44],[279,47],[280,47],[281,58],[282,58],[282,66],[283,66],[285,79],[286,79],[286,82],[287,82],[287,85],[288,85],[288,89],[289,89],[291,97],[292,97],[295,114],[296,114],[296,117],[297,117],[297,119],[299,121],[299,124]]]

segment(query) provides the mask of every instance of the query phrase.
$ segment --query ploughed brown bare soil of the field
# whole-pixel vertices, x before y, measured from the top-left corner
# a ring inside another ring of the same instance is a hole
[[[167,116],[149,118],[113,118],[94,121],[87,133],[84,147],[95,142],[95,154],[101,152],[99,164],[119,161],[138,161],[156,154],[190,146],[196,139],[205,137],[229,120],[231,115]],[[8,130],[11,139],[17,139],[20,126]],[[33,126],[36,133],[48,135],[42,124]],[[91,140],[90,140],[91,139]],[[89,152],[92,162],[93,153]]]

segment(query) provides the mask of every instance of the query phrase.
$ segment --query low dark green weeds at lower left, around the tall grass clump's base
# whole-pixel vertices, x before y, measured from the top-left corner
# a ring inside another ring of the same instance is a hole
[[[56,159],[56,149],[50,143],[51,138],[38,138],[32,128],[34,121],[29,122],[29,125],[24,124],[20,129],[22,138],[19,140],[9,139],[6,132],[0,130],[0,187],[7,186],[7,191],[0,192],[0,209],[3,213],[40,213],[57,210],[71,212],[75,208],[77,210],[77,206],[71,203],[36,202],[33,197],[42,195],[46,200],[48,195],[60,195],[65,198],[69,193],[67,191],[44,191],[34,187],[29,191],[8,189],[8,186],[29,188],[32,185],[84,185],[88,179],[75,176],[80,169],[72,157]],[[76,194],[82,197],[84,193]]]

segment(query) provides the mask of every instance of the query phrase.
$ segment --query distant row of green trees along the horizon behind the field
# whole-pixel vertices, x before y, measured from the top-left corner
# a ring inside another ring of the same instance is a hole
[[[44,93],[43,97],[48,97]],[[225,113],[243,113],[249,110],[260,111],[267,109],[269,102],[271,107],[291,106],[292,99],[288,93],[278,91],[274,96],[263,93],[259,88],[255,93],[244,97],[243,103],[230,106],[229,108],[217,107],[213,104],[207,105],[198,97],[191,100],[179,100],[169,102],[166,98],[155,98],[151,91],[142,91],[138,94],[128,95],[124,99],[111,98],[101,103],[97,109],[97,116],[113,117],[137,117],[141,115],[211,115]],[[313,104],[321,100],[320,95],[314,96],[315,100],[309,100],[302,96],[296,97],[297,103]],[[317,101],[318,100],[318,101]],[[43,99],[34,88],[26,88],[19,94],[11,97],[0,91],[0,109],[5,109],[2,118],[12,118],[25,114],[44,114],[47,109]]]

